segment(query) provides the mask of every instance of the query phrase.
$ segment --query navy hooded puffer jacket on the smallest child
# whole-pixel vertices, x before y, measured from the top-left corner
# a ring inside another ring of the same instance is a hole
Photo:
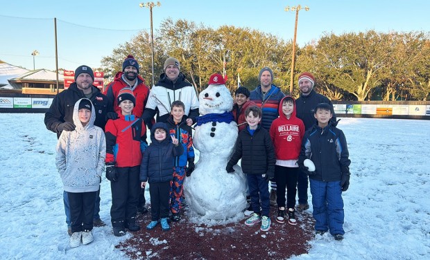
[[[166,131],[166,139],[155,139],[155,129]],[[146,148],[140,165],[140,180],[148,183],[162,183],[173,180],[173,161],[184,152],[182,145],[175,146],[169,136],[169,129],[163,122],[157,122],[150,130],[151,144]]]

